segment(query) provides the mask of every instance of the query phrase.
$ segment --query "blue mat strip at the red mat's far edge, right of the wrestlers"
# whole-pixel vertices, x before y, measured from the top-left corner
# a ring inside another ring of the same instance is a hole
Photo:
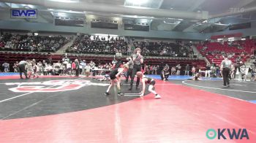
[[[151,77],[157,80],[161,80],[160,75],[146,75],[146,77]],[[168,80],[188,80],[192,76],[188,75],[172,75],[169,76]],[[219,77],[202,77],[202,80],[222,80],[222,78]]]

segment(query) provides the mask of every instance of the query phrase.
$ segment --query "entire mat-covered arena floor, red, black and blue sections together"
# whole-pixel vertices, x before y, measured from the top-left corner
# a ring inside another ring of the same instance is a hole
[[[256,142],[255,82],[170,77],[154,99],[125,83],[127,96],[105,96],[108,82],[89,77],[0,79],[0,142]],[[249,139],[208,139],[209,128],[246,128]]]

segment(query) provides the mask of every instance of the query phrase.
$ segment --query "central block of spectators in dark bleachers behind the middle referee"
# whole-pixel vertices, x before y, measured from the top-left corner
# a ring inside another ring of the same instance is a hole
[[[109,40],[99,39],[89,35],[78,36],[67,53],[86,53],[103,55],[129,55],[135,47],[142,47],[142,54],[145,56],[181,57],[192,58],[194,51],[192,45],[181,42],[138,42],[134,39],[124,41],[121,37]]]

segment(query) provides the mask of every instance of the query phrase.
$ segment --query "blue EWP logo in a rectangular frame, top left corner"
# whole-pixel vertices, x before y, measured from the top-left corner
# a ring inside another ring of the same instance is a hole
[[[11,9],[11,18],[37,18],[37,9]]]

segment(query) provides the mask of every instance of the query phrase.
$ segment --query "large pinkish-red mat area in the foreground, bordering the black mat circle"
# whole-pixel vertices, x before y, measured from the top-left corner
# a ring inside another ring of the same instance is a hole
[[[157,80],[149,94],[107,107],[0,120],[0,142],[256,142],[256,105]],[[246,128],[249,139],[208,139],[209,128]]]

